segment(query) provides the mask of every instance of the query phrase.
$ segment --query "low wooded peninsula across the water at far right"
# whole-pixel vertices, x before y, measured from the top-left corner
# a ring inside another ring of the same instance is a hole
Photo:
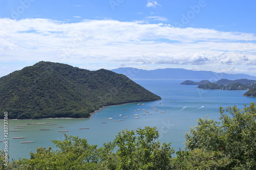
[[[217,90],[249,90],[244,94],[244,96],[256,96],[256,80],[221,79],[217,82],[209,82],[208,80],[194,82],[191,80],[186,80],[182,82],[181,85],[198,85],[198,88],[200,89],[210,89],[210,90],[216,90],[216,89]]]

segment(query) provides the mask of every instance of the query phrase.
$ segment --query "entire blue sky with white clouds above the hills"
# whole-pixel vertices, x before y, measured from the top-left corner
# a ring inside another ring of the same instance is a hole
[[[251,0],[0,0],[0,77],[39,61],[256,76],[255,6]]]

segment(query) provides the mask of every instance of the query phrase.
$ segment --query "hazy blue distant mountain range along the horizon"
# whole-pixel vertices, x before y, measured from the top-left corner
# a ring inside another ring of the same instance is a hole
[[[210,81],[217,81],[220,79],[254,79],[255,76],[246,74],[226,74],[224,72],[213,72],[213,71],[194,71],[183,68],[164,68],[155,70],[144,70],[132,67],[120,67],[112,69],[112,71],[123,74],[130,79],[205,79]]]

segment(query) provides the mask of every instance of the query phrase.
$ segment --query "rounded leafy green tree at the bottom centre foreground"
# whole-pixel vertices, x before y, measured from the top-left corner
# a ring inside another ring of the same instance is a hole
[[[104,145],[108,154],[102,161],[109,169],[172,169],[171,143],[160,144],[156,141],[158,137],[156,128],[138,128],[136,134],[133,130],[123,130],[112,143]],[[110,157],[115,160],[108,161]]]

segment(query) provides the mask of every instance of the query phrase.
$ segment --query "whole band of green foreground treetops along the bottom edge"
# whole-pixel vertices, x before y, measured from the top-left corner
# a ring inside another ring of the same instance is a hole
[[[59,150],[37,148],[30,159],[2,169],[256,169],[256,105],[220,108],[220,120],[200,118],[186,133],[185,150],[160,143],[156,128],[123,130],[103,147],[67,136],[52,140]],[[3,154],[3,153],[2,153]],[[1,156],[3,159],[3,156]]]

